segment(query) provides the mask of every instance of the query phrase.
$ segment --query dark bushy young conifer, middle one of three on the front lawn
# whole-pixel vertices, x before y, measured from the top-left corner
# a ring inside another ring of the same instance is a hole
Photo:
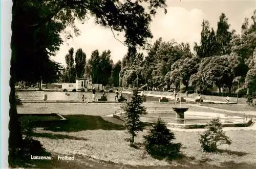
[[[175,135],[160,119],[153,125],[148,135],[144,136],[144,139],[146,151],[155,158],[177,157],[182,146],[181,143],[172,143]]]

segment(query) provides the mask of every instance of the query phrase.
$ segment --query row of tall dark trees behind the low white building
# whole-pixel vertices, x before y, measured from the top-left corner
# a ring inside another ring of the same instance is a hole
[[[75,82],[77,78],[92,77],[93,83],[119,85],[121,61],[116,64],[111,60],[111,51],[104,50],[101,54],[94,50],[91,58],[86,60],[86,53],[77,49],[74,59],[74,48],[70,48],[65,56],[66,68],[62,71],[63,82]]]

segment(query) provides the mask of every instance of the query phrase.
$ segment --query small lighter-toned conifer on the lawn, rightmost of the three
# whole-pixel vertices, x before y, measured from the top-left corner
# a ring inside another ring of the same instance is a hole
[[[207,130],[200,134],[199,142],[205,152],[216,152],[217,147],[223,144],[230,145],[231,139],[225,135],[219,118],[212,119],[206,126]]]

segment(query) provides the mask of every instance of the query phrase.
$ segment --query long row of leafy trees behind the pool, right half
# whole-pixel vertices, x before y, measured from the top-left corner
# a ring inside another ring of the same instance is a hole
[[[201,41],[195,43],[194,53],[188,43],[164,42],[161,38],[147,50],[146,57],[136,48],[129,48],[122,60],[119,85],[135,85],[138,79],[152,87],[179,88],[181,81],[186,90],[191,86],[205,93],[217,87],[219,92],[224,88],[230,94],[239,82],[250,89],[249,95],[255,95],[255,21],[254,11],[251,20],[245,18],[240,35],[230,30],[224,13],[217,31],[203,20]]]

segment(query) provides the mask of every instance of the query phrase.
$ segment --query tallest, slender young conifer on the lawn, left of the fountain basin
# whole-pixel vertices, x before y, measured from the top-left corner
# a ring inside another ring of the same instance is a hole
[[[137,89],[133,91],[131,102],[127,102],[126,106],[122,107],[126,112],[125,126],[127,132],[131,135],[131,138],[127,139],[130,141],[131,146],[134,145],[134,137],[137,136],[138,131],[143,130],[143,124],[140,121],[139,115],[146,114],[146,109],[141,106],[142,99],[138,95]]]

